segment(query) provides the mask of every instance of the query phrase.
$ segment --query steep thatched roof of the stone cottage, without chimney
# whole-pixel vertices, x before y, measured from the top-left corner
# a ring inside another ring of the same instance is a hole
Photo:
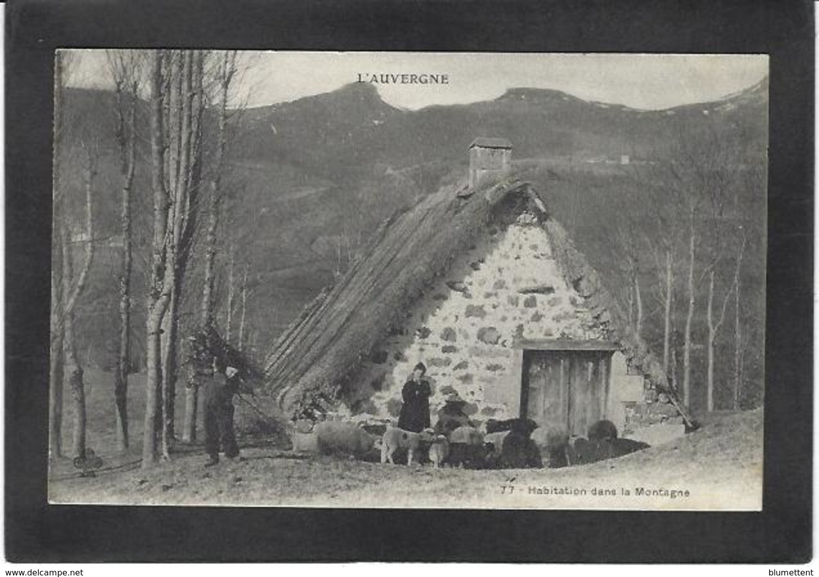
[[[597,309],[632,365],[667,390],[662,367],[628,328],[618,304],[540,196],[529,183],[510,179],[479,191],[445,188],[388,219],[363,257],[305,309],[265,360],[279,407],[291,412],[305,393],[332,394],[342,386],[373,345],[400,326],[409,306],[449,270],[453,257],[485,232],[500,205],[538,215],[567,282]]]

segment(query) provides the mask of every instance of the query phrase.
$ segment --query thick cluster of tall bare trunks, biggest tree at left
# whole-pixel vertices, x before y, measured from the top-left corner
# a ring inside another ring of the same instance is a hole
[[[154,241],[143,467],[170,458],[183,282],[197,230],[204,54],[156,52],[151,74]],[[165,151],[168,154],[165,154]]]

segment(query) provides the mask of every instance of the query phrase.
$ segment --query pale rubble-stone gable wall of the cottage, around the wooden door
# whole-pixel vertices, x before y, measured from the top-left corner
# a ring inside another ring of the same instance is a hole
[[[349,401],[360,418],[396,417],[401,387],[422,362],[433,415],[456,391],[477,421],[516,417],[522,357],[516,341],[608,338],[560,274],[547,232],[524,213],[505,230],[488,228],[455,259],[404,324],[373,349],[353,376],[351,388],[360,392]]]

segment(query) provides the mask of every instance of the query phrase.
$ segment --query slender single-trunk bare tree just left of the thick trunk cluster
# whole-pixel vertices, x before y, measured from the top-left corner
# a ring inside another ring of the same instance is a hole
[[[142,56],[138,52],[107,52],[108,67],[115,89],[114,136],[120,153],[120,334],[114,369],[116,439],[120,451],[128,450],[128,374],[131,330],[132,217],[131,189],[136,169],[136,115],[141,80]]]

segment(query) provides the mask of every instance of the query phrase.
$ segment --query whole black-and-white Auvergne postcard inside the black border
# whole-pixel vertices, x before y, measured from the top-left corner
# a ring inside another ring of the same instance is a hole
[[[767,56],[55,62],[50,503],[762,509]]]

